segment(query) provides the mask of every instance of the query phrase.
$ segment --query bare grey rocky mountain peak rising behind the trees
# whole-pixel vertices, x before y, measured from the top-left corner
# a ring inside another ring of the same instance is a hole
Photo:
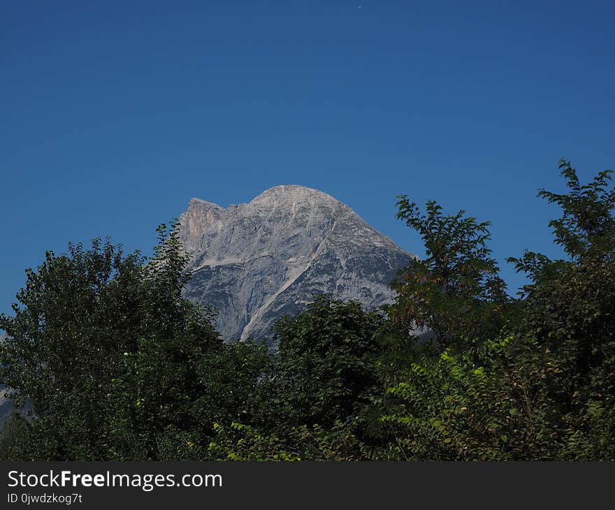
[[[389,283],[414,256],[347,205],[302,186],[226,209],[193,198],[180,233],[193,256],[186,296],[219,310],[227,340],[268,338],[276,319],[323,293],[368,309],[387,303]]]

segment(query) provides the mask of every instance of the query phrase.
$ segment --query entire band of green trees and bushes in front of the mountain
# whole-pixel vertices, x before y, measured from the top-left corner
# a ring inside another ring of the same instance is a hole
[[[175,226],[153,258],[110,242],[48,252],[0,316],[15,388],[4,460],[615,459],[615,191],[570,163],[550,222],[565,260],[523,252],[510,298],[489,223],[402,196],[426,258],[395,303],[318,298],[275,353],[226,343],[182,298]],[[29,405],[27,405],[29,402]]]

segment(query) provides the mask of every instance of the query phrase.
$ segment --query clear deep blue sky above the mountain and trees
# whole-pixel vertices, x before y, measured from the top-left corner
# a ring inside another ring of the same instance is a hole
[[[612,1],[4,1],[0,311],[45,249],[148,251],[193,196],[303,184],[399,245],[395,197],[558,254],[557,161],[615,166]]]

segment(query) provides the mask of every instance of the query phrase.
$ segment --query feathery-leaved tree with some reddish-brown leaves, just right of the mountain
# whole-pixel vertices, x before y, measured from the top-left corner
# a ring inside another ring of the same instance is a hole
[[[413,258],[391,283],[391,319],[406,330],[432,330],[442,346],[497,334],[508,298],[487,245],[489,221],[463,210],[444,215],[435,201],[421,212],[405,195],[397,206],[397,217],[421,235],[426,258]]]

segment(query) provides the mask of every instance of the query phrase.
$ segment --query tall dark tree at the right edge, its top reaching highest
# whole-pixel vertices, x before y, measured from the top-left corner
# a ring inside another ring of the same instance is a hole
[[[540,395],[570,458],[615,458],[615,189],[610,170],[581,185],[570,162],[568,192],[540,190],[562,216],[549,223],[567,259],[526,251],[510,258],[530,284],[512,347],[535,345],[520,363],[547,363]],[[526,349],[526,352],[528,350]]]

